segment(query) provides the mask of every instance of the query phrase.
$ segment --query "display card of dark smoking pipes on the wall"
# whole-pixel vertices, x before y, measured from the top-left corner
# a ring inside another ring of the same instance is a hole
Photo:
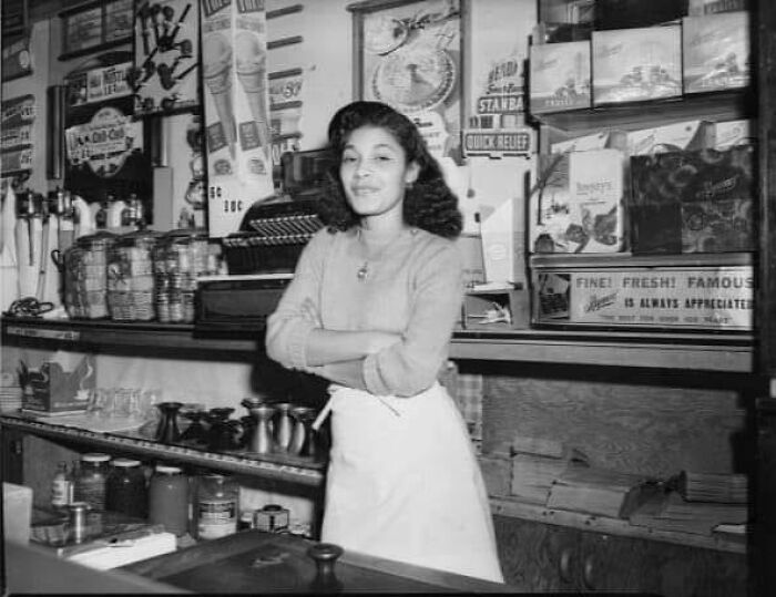
[[[137,2],[131,84],[135,114],[170,114],[200,105],[197,0]]]

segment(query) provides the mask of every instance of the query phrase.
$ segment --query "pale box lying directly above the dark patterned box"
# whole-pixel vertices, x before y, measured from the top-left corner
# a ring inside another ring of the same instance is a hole
[[[686,121],[627,133],[627,155],[696,151],[714,147],[714,125]]]

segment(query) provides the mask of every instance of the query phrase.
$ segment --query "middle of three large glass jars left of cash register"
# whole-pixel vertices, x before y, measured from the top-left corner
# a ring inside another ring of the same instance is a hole
[[[108,255],[108,306],[116,321],[151,321],[155,317],[153,249],[160,233],[121,235]]]

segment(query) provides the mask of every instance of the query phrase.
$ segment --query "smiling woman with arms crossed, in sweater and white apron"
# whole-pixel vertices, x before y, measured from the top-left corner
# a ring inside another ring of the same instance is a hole
[[[331,382],[321,539],[503,581],[466,424],[437,382],[463,292],[456,197],[412,122],[385,104],[343,107],[328,136],[327,228],[266,336],[272,359]]]

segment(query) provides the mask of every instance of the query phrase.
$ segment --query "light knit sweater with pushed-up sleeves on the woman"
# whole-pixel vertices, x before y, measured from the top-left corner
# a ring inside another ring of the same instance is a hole
[[[436,381],[460,317],[459,249],[452,240],[411,228],[369,260],[365,279],[358,277],[361,255],[355,228],[313,236],[267,319],[267,354],[286,368],[376,395],[415,395]],[[401,341],[357,361],[309,367],[307,338],[316,325],[302,315],[305,299],[317,307],[324,329],[388,331]]]

